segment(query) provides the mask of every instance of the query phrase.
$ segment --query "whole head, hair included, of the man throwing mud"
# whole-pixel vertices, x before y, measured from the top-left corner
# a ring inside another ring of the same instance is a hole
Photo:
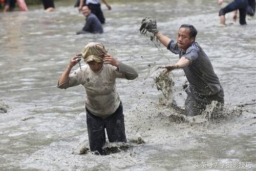
[[[181,25],[177,34],[177,44],[184,52],[196,40],[197,30],[192,25]]]

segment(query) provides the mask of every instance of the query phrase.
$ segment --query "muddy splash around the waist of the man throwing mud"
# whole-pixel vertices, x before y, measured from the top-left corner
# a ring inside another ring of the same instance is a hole
[[[209,122],[214,123],[230,117],[240,116],[242,114],[241,105],[224,107],[219,102],[212,101],[206,106],[206,109],[200,115],[192,117],[185,116],[184,109],[178,106],[174,100],[175,82],[172,72],[169,72],[166,75],[161,72],[158,76],[154,78],[154,81],[157,85],[157,89],[160,90],[163,94],[163,97],[159,98],[159,105],[165,106],[166,108],[172,109],[173,111],[173,113],[168,116],[170,122],[190,123],[191,125]],[[183,85],[183,89],[184,87],[187,87],[186,82]]]

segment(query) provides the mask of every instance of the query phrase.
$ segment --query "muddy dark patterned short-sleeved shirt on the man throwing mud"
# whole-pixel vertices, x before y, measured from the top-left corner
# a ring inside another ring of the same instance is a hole
[[[197,42],[193,42],[185,53],[176,46],[176,42],[173,40],[169,42],[167,49],[174,54],[179,54],[180,58],[185,57],[190,61],[191,64],[183,67],[183,70],[191,93],[204,98],[222,90],[209,58]]]

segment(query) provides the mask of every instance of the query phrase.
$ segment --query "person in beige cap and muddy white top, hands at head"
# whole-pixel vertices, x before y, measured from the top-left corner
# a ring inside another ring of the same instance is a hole
[[[88,63],[70,71],[79,62],[76,55],[63,71],[58,88],[83,85],[86,88],[87,130],[90,150],[104,155],[105,129],[110,142],[126,142],[123,107],[116,90],[116,78],[134,80],[136,70],[108,54],[102,43],[88,43],[81,52]]]

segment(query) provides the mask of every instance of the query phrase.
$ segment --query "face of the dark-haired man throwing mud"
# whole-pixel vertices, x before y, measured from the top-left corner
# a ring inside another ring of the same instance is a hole
[[[184,52],[186,52],[187,48],[191,45],[193,41],[195,41],[195,38],[189,36],[189,29],[187,28],[179,29],[177,34],[177,43],[179,48],[181,48]]]

